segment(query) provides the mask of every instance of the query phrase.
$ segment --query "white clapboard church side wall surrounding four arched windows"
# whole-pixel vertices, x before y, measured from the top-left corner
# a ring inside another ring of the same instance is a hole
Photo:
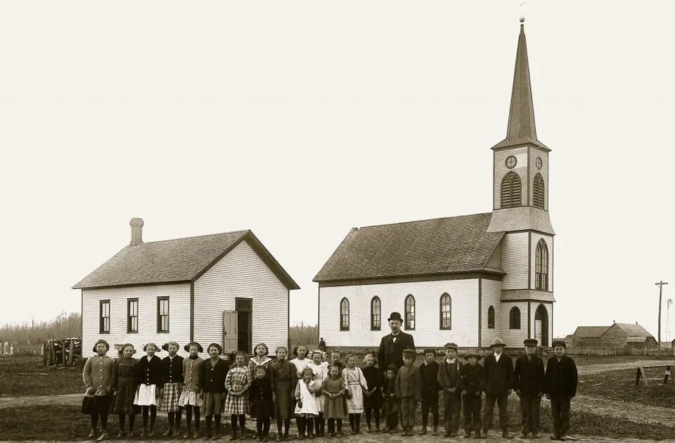
[[[440,326],[440,297],[452,299],[452,329]],[[478,280],[385,283],[320,288],[319,335],[326,345],[336,347],[377,347],[390,333],[387,318],[391,312],[405,316],[404,302],[412,294],[416,300],[416,328],[404,330],[415,338],[416,347],[442,347],[456,342],[462,347],[478,344]],[[371,330],[371,300],[382,302],[381,330]],[[340,330],[340,301],[349,300],[349,330]]]

